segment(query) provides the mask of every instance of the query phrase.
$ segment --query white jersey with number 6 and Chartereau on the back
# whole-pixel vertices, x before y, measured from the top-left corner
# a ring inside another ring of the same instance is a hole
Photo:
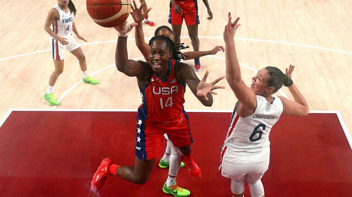
[[[269,147],[269,133],[279,120],[283,105],[279,97],[273,97],[269,103],[263,96],[256,95],[257,108],[245,118],[236,112],[237,104],[231,116],[226,140],[221,147],[221,155],[228,148],[234,152],[261,152]]]

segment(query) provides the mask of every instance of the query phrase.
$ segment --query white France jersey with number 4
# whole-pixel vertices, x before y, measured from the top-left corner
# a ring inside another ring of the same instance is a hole
[[[73,16],[70,9],[65,13],[58,5],[54,6],[59,13],[59,20],[52,22],[52,31],[62,38],[66,38],[71,35],[73,26]]]

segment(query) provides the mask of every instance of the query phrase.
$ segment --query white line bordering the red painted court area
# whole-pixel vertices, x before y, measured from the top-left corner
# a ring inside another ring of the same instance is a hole
[[[39,109],[39,108],[13,108],[8,110],[6,113],[5,117],[1,120],[0,122],[0,128],[2,127],[2,124],[6,121],[8,116],[12,113],[12,111],[84,111],[84,112],[137,112],[137,109]],[[189,109],[186,110],[187,112],[205,112],[205,113],[232,113],[233,110],[201,110],[201,109]],[[348,132],[348,129],[346,127],[346,124],[340,114],[340,111],[309,111],[310,114],[336,114],[339,122],[341,124],[342,130],[344,130],[345,136],[347,138],[348,144],[350,144],[351,150],[352,150],[352,139],[350,136],[350,133]]]

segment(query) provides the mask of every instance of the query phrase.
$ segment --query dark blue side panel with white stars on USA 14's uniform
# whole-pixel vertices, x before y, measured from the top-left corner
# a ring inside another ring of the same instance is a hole
[[[136,156],[142,161],[147,160],[147,154],[145,151],[145,124],[144,121],[148,117],[148,109],[145,99],[145,89],[139,88],[140,95],[142,97],[142,107],[138,108],[137,113],[137,127],[136,127]],[[142,123],[138,124],[138,122]],[[140,130],[140,131],[139,131]],[[138,142],[138,140],[140,141]]]

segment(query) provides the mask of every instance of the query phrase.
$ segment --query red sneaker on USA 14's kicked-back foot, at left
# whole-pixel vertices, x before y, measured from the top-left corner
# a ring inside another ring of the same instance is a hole
[[[109,165],[111,165],[112,163],[113,162],[109,158],[103,159],[100,166],[98,167],[98,170],[96,170],[93,175],[93,179],[91,182],[93,191],[99,191],[102,186],[108,181],[108,178],[110,176]]]

